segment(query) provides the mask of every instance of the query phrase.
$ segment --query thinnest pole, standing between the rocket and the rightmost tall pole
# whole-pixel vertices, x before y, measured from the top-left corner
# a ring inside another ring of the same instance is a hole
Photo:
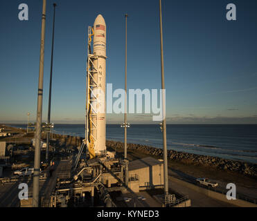
[[[125,158],[125,185],[128,185],[127,161],[127,14],[125,14],[125,113],[124,113],[124,158]]]

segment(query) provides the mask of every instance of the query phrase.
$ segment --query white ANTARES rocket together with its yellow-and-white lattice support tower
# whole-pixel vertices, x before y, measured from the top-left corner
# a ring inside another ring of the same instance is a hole
[[[93,53],[91,37],[93,36]],[[91,158],[106,153],[105,82],[106,82],[106,24],[98,15],[94,27],[89,27],[87,59],[86,143]]]

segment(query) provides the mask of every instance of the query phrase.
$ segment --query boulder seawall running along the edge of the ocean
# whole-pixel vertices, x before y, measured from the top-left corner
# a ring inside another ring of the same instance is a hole
[[[11,126],[7,127],[13,128],[15,129],[15,131],[22,131],[23,133],[26,131],[25,129],[19,129]],[[59,140],[62,144],[65,144],[66,146],[73,147],[80,146],[83,140],[83,138],[79,136],[61,135],[57,133],[53,133],[53,138]],[[42,139],[45,139],[44,135],[42,135]],[[106,140],[106,147],[112,148],[113,150],[115,150],[116,148],[123,149],[124,143],[114,140]],[[159,158],[163,157],[163,150],[157,147],[147,146],[143,144],[127,143],[127,149],[132,151],[139,151],[141,153]],[[254,163],[243,162],[239,160],[227,160],[221,157],[212,157],[209,155],[197,155],[194,153],[186,153],[183,151],[168,150],[167,153],[168,161],[179,162],[186,165],[202,166],[205,168],[215,169],[219,171],[237,172],[242,175],[246,175],[247,177],[253,177],[257,179],[257,164]]]

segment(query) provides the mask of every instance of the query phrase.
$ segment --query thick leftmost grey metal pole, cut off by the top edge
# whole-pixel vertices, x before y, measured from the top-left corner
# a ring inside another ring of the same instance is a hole
[[[42,10],[42,30],[39,61],[39,80],[37,93],[37,125],[35,133],[35,158],[33,175],[33,207],[39,206],[39,173],[40,173],[40,144],[42,126],[42,99],[43,99],[43,79],[44,79],[44,33],[46,28],[46,0],[43,0]]]

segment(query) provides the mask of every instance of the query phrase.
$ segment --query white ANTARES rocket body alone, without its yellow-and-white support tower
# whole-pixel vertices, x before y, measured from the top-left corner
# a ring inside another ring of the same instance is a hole
[[[106,116],[105,116],[105,83],[106,83],[106,24],[102,15],[98,15],[94,22],[94,55],[98,59],[94,60],[94,68],[96,73],[93,73],[94,79],[97,81],[98,87],[93,88],[93,93],[96,99],[93,99],[92,112],[95,114],[93,122],[97,125],[96,130],[91,133],[96,137],[94,143],[94,151],[96,155],[103,155],[106,152]]]

